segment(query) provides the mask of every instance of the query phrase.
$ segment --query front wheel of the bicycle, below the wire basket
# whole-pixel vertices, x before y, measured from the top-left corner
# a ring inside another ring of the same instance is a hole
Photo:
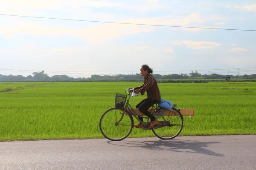
[[[103,136],[111,141],[120,141],[130,135],[134,126],[130,114],[124,113],[122,108],[111,108],[103,113],[99,128]]]

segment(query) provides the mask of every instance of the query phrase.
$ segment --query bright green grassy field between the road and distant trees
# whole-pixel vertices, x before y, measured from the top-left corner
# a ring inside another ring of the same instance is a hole
[[[136,82],[0,83],[0,140],[103,138],[99,119],[113,108],[115,93]],[[159,83],[163,99],[194,108],[179,136],[255,134],[256,82]],[[131,99],[132,106],[144,96]],[[134,123],[137,120],[134,119]],[[154,136],[133,129],[129,137]]]

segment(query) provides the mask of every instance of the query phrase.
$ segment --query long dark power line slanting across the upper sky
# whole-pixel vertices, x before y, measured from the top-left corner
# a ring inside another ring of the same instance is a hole
[[[33,16],[25,16],[25,15],[11,15],[11,14],[0,14],[0,15],[3,15],[3,16],[12,16],[12,17],[29,17],[29,18],[52,19],[52,20],[82,21],[82,22],[93,22],[93,23],[128,24],[128,25],[139,25],[139,26],[162,26],[162,27],[197,28],[197,29],[217,29],[217,30],[232,30],[232,31],[256,31],[256,30],[249,30],[249,29],[209,28],[209,27],[189,27],[189,26],[168,26],[168,25],[139,24],[139,23],[119,23],[119,22],[95,21],[95,20],[75,20],[75,19],[65,19],[65,18],[33,17]]]

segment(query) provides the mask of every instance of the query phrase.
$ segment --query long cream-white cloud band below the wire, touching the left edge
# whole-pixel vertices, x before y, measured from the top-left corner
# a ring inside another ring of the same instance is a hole
[[[91,43],[101,43],[104,40],[113,39],[127,34],[138,34],[140,32],[151,31],[152,28],[125,25],[125,24],[102,24],[90,28],[67,28],[56,26],[39,26],[37,23],[23,20],[15,20],[15,25],[6,25],[0,27],[0,33],[6,37],[13,37],[19,34],[32,36],[71,36],[87,40]]]

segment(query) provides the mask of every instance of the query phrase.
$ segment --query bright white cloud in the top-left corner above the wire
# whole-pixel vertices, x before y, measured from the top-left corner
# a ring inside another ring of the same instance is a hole
[[[59,18],[73,18],[84,20],[90,16],[90,20],[112,20],[112,13],[93,12],[91,9],[85,7],[117,7],[123,6],[122,3],[112,3],[106,0],[0,0],[1,14],[14,14],[35,17],[59,17]],[[52,10],[52,11],[46,11]],[[59,15],[59,14],[61,15]],[[116,18],[119,18],[117,16]],[[13,18],[13,17],[9,17]]]

